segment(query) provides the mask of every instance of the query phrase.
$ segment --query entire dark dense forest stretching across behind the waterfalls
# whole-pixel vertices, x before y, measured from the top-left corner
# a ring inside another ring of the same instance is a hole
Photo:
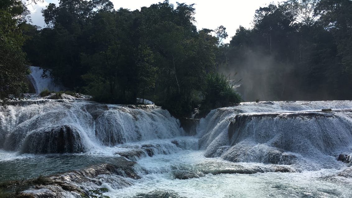
[[[135,11],[61,0],[42,13],[39,28],[24,2],[0,2],[1,98],[24,90],[28,65],[95,101],[146,98],[175,116],[240,102],[239,81],[245,101],[352,98],[351,0],[260,7],[252,28],[240,26],[229,44],[221,20],[197,30],[193,5],[167,0]]]

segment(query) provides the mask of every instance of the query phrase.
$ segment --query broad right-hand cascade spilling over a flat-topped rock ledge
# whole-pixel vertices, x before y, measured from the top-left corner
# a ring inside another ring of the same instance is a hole
[[[326,108],[333,110],[321,110]],[[220,108],[198,128],[204,134],[200,145],[206,157],[233,162],[331,168],[338,166],[340,153],[351,153],[351,109],[351,101],[242,103]]]

